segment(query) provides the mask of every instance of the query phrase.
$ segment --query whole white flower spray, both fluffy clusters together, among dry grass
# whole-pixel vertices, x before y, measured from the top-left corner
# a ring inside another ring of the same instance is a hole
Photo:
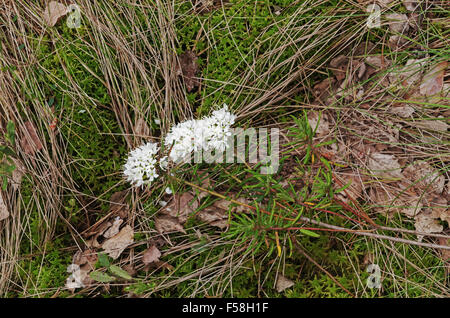
[[[159,162],[162,170],[166,170],[169,159],[180,162],[190,158],[191,153],[203,151],[224,151],[231,136],[231,125],[236,116],[228,111],[228,106],[216,110],[211,116],[197,120],[187,120],[171,128],[164,139],[169,152]],[[147,143],[130,152],[124,166],[124,174],[131,184],[139,187],[150,184],[158,178],[156,156],[159,147],[155,143]]]

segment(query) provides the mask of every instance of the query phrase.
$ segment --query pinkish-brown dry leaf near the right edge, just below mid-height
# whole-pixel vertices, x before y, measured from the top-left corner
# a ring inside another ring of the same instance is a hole
[[[407,187],[413,187],[418,193],[441,194],[444,191],[445,177],[427,162],[413,162],[403,169],[403,175],[405,179],[402,183]]]

